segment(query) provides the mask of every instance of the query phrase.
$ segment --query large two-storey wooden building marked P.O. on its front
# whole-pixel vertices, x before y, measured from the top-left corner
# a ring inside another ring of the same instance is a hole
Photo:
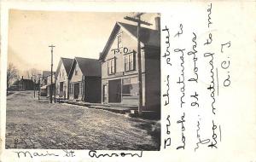
[[[160,29],[141,27],[140,38],[143,111],[160,114]],[[99,60],[102,103],[138,106],[137,26],[117,22]]]

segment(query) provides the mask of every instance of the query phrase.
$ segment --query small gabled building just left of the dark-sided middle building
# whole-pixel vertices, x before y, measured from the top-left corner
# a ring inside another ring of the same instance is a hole
[[[67,98],[68,92],[68,73],[71,69],[73,59],[62,58],[59,61],[55,78],[56,96],[60,98]]]

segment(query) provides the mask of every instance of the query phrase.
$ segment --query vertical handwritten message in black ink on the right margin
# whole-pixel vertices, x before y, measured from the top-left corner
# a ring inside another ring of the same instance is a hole
[[[164,149],[216,149],[222,140],[218,97],[231,86],[231,41],[215,34],[213,8],[207,4],[200,29],[183,22],[161,29]]]

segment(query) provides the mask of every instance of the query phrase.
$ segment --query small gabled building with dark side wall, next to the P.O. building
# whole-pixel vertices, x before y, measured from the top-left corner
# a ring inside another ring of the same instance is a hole
[[[68,74],[68,98],[86,102],[101,102],[101,63],[96,59],[75,57]]]

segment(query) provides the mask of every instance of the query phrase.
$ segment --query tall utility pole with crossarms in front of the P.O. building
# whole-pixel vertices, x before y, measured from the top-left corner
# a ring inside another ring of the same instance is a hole
[[[143,112],[143,74],[142,74],[142,57],[141,57],[141,40],[140,40],[140,28],[141,25],[151,26],[152,24],[141,20],[143,13],[137,13],[134,17],[125,16],[125,20],[131,20],[137,22],[137,61],[138,61],[138,84],[139,84],[139,105],[138,113]]]

